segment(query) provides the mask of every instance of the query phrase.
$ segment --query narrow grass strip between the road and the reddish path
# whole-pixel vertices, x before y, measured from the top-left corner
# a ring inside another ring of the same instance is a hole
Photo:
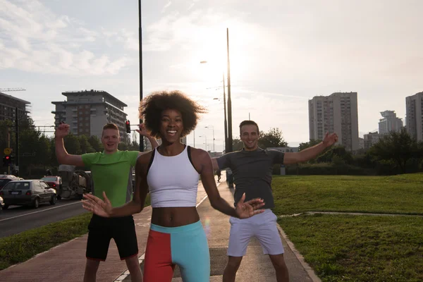
[[[145,207],[150,205],[147,194]],[[88,232],[92,214],[86,213],[0,239],[0,271]]]

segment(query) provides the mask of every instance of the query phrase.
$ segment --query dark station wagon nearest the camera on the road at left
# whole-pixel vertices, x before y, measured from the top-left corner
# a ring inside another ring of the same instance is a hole
[[[32,206],[35,209],[39,204],[49,202],[56,204],[56,190],[42,180],[13,180],[7,183],[0,190],[0,197],[4,200],[4,209],[12,204],[23,206]]]

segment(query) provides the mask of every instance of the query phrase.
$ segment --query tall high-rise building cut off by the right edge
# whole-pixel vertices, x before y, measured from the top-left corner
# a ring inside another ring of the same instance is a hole
[[[423,141],[423,92],[405,98],[407,132],[417,141]]]

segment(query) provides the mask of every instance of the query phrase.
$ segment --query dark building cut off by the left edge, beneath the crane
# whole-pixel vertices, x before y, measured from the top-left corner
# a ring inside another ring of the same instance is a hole
[[[16,118],[16,108],[18,108],[18,118],[27,116],[30,113],[28,107],[30,102],[13,97],[0,92],[0,121],[12,120]]]

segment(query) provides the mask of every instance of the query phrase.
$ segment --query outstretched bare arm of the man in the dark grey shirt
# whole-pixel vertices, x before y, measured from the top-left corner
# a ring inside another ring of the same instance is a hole
[[[297,164],[303,161],[309,161],[317,157],[324,149],[331,147],[333,144],[338,142],[338,135],[336,133],[326,133],[324,140],[313,147],[303,149],[298,153],[285,153],[283,164]]]

